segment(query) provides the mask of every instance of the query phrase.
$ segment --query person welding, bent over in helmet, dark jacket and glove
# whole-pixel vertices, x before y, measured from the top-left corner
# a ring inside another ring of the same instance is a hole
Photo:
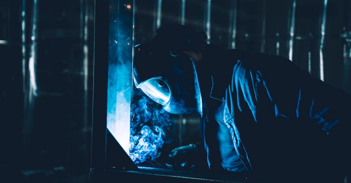
[[[174,149],[168,167],[193,168],[191,158],[204,149],[210,171],[269,182],[344,182],[350,94],[285,57],[226,50],[206,39],[204,31],[170,24],[135,46],[137,88],[167,112],[201,116],[203,142]]]

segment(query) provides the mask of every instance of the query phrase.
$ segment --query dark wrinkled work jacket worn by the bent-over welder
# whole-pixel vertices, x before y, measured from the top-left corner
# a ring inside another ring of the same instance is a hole
[[[216,162],[222,162],[214,150],[218,140],[210,140],[215,136],[210,103],[218,107],[216,100],[224,100],[223,120],[231,135],[226,138],[251,175],[343,179],[350,170],[350,95],[284,57],[233,49],[219,53],[210,57],[220,67],[211,74],[205,103],[210,112],[202,119],[210,169],[223,168]]]

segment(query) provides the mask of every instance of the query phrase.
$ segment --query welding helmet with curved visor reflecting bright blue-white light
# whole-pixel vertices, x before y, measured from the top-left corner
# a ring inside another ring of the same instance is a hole
[[[193,60],[186,54],[156,49],[151,42],[134,47],[135,86],[172,114],[202,116],[202,100]]]

